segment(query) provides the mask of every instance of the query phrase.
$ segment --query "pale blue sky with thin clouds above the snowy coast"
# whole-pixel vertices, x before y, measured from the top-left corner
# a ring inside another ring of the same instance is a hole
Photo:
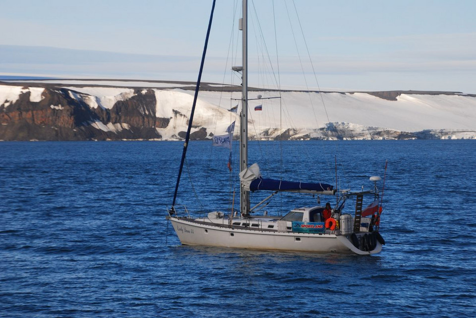
[[[211,2],[0,0],[0,75],[194,81]],[[476,93],[474,0],[274,0],[277,41],[272,4],[250,0],[250,66],[263,68],[265,59],[254,52],[256,10],[272,61],[278,51],[283,86],[316,87],[296,5],[321,89]],[[235,8],[235,0],[217,0],[205,81],[237,84],[224,75],[240,63],[227,64],[238,40]],[[251,74],[251,85],[265,82]]]

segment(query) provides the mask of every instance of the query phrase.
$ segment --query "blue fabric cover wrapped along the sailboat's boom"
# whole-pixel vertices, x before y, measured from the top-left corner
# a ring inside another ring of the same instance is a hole
[[[249,189],[251,191],[270,190],[292,192],[323,192],[332,191],[332,186],[327,183],[307,183],[257,178],[251,181]]]

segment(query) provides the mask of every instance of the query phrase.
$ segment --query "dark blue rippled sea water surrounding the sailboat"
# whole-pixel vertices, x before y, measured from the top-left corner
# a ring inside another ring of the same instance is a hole
[[[177,202],[195,215],[230,209],[237,180],[228,150],[209,146],[190,143],[180,181]],[[382,252],[181,246],[165,219],[181,142],[1,142],[0,316],[476,316],[475,141],[249,149],[267,177],[335,183],[337,167],[338,186],[354,190],[388,159]],[[278,195],[268,210],[316,200]]]

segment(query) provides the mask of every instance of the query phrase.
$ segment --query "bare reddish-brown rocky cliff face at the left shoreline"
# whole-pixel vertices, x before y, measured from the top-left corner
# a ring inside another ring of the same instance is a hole
[[[160,139],[156,128],[170,120],[156,117],[152,90],[134,91],[110,109],[93,108],[86,101],[95,97],[65,88],[45,88],[38,102],[31,94],[26,90],[0,105],[0,140]]]

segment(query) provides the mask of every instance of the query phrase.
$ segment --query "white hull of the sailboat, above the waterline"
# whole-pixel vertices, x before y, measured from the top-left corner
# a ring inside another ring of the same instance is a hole
[[[361,251],[346,236],[340,234],[233,228],[175,216],[170,217],[170,220],[183,245],[358,255],[376,254],[382,250],[382,245],[377,242],[373,251]]]

